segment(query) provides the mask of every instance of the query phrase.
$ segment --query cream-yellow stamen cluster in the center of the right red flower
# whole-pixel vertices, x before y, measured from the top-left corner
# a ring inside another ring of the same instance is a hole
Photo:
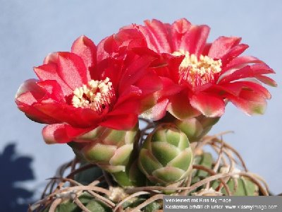
[[[198,59],[195,54],[183,50],[172,54],[174,56],[185,55],[179,66],[179,83],[187,82],[192,87],[202,86],[205,83],[214,82],[214,76],[221,71],[221,59],[214,60],[202,54]]]

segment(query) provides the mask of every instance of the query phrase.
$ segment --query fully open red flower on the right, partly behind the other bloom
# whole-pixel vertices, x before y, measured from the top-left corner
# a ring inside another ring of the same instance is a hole
[[[207,25],[192,25],[185,18],[173,24],[145,20],[145,25],[122,28],[104,47],[115,57],[125,47],[140,55],[159,54],[151,66],[164,88],[149,111],[153,119],[160,119],[166,110],[178,119],[198,114],[220,117],[228,101],[247,114],[262,114],[271,95],[260,82],[276,86],[265,76],[274,71],[255,57],[239,56],[248,47],[240,37],[207,43],[208,35]],[[115,48],[109,49],[109,43]]]

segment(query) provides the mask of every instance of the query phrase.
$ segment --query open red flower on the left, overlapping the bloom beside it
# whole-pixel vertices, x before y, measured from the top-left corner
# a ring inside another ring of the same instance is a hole
[[[131,129],[140,100],[161,88],[159,78],[147,71],[155,58],[134,58],[97,60],[92,40],[79,37],[71,52],[49,54],[35,67],[39,80],[20,86],[16,104],[30,119],[49,124],[42,131],[47,143],[75,140],[97,126]],[[146,83],[151,76],[155,83]]]

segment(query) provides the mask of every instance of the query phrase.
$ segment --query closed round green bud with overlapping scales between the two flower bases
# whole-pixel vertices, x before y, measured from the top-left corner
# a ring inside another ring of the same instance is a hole
[[[174,124],[160,124],[143,143],[138,166],[154,184],[167,185],[185,179],[192,169],[187,136]]]

